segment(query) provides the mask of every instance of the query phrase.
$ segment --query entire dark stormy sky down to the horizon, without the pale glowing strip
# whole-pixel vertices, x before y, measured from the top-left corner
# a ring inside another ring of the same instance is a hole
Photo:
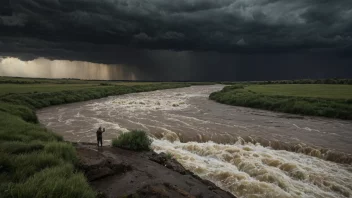
[[[2,0],[0,56],[154,80],[352,77],[352,1]]]

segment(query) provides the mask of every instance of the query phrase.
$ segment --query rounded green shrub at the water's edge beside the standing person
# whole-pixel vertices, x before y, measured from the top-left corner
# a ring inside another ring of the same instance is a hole
[[[148,151],[152,140],[148,137],[147,133],[141,130],[132,130],[128,133],[121,134],[118,138],[112,140],[114,147],[134,151]]]

